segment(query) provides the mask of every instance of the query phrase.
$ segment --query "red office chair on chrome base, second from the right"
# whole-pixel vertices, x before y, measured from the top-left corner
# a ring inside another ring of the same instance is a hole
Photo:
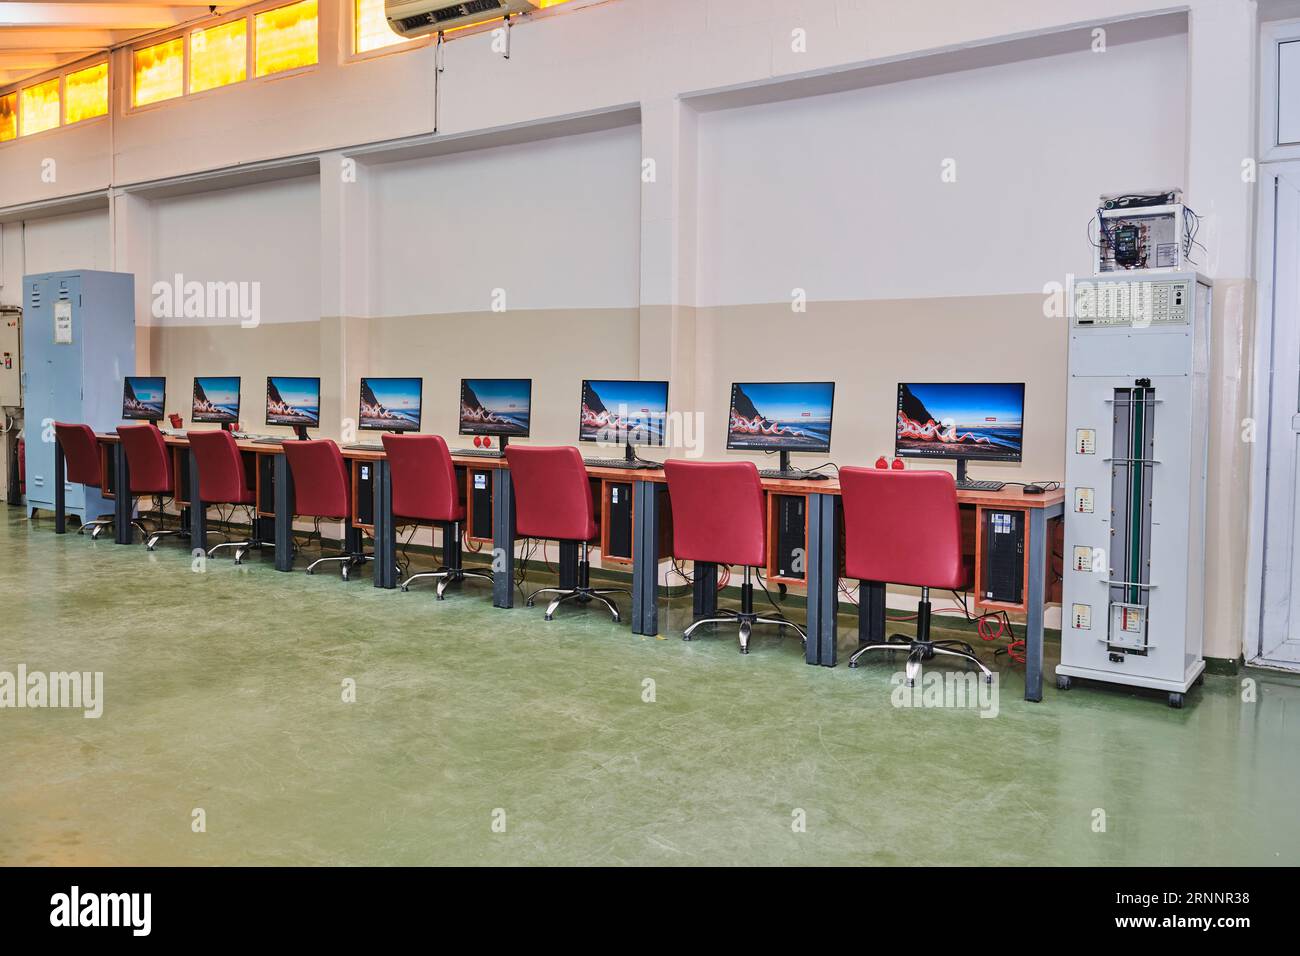
[[[740,624],[740,653],[749,653],[754,624],[794,628],[805,645],[803,628],[784,617],[764,618],[754,613],[751,568],[767,563],[766,511],[763,485],[753,462],[663,463],[672,503],[672,554],[675,558],[708,564],[742,564],[745,580],[740,588],[740,610],[720,610],[716,618],[701,618],[681,639],[689,641],[705,624]]]

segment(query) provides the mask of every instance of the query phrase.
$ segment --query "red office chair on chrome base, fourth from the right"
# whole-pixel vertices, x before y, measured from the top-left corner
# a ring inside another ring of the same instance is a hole
[[[460,523],[465,520],[465,506],[460,503],[456,467],[451,463],[447,442],[441,434],[385,433],[381,438],[393,479],[393,520],[441,524],[451,561],[437,571],[411,575],[402,581],[402,591],[408,591],[411,581],[421,578],[437,578],[438,600],[442,601],[447,585],[465,578],[480,578],[490,584],[490,571],[467,571],[462,563]]]

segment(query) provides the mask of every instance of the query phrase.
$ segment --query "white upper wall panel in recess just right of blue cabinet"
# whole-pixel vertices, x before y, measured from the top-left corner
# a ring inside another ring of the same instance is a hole
[[[157,199],[150,286],[257,282],[263,324],[320,320],[320,181],[315,176]],[[140,324],[209,325],[139,316]]]

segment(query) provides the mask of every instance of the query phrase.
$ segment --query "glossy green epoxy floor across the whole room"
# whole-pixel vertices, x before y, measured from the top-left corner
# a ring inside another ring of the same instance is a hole
[[[0,864],[1300,862],[1290,676],[1208,676],[1175,711],[1052,684],[1026,704],[1001,663],[982,718],[894,708],[901,657],[684,644],[689,597],[656,640],[269,553],[195,574],[183,545],[56,537],[20,509],[0,555],[0,671],[105,682],[100,719],[0,710]]]

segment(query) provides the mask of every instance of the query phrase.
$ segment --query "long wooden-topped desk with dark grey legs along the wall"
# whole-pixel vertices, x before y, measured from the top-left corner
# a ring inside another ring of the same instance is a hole
[[[105,492],[109,484],[113,489],[130,486],[130,472],[126,457],[118,454],[116,433],[99,436],[104,450]],[[198,463],[188,441],[183,437],[166,436],[165,442],[177,457],[177,502],[185,509],[190,523],[191,548],[204,548],[207,544],[205,511],[202,502],[194,501],[199,488]],[[276,570],[292,570],[292,515],[294,486],[287,462],[277,444],[264,444],[239,440],[239,450],[255,457],[254,492],[255,518],[273,522]],[[64,529],[61,490],[64,486],[62,450],[57,442],[55,450],[56,489],[56,531]],[[354,489],[358,486],[358,471],[363,466],[369,470],[367,481],[372,488],[369,503],[370,520],[359,520],[354,502],[354,514],[348,516],[347,533],[351,541],[359,541],[363,531],[369,531],[374,540],[374,587],[395,588],[396,575],[396,525],[393,519],[393,485],[389,476],[387,459],[381,449],[343,449],[348,467],[354,470]],[[491,476],[491,545],[493,545],[493,604],[497,607],[512,607],[515,604],[515,514],[514,492],[511,489],[510,468],[504,459],[452,455],[458,468],[469,473]],[[182,497],[181,475],[187,475],[188,498]],[[659,563],[664,557],[664,531],[671,522],[667,496],[663,488],[667,483],[662,470],[629,471],[624,468],[589,467],[588,473],[595,481],[615,483],[632,486],[632,554],[627,563],[632,566],[632,632],[638,635],[659,633]],[[269,489],[268,486],[269,485]],[[807,648],[805,659],[810,665],[833,667],[837,663],[836,632],[838,615],[840,567],[842,548],[837,510],[840,483],[835,480],[803,481],[763,479],[763,490],[772,501],[779,496],[794,496],[806,499],[806,570],[803,584],[807,589]],[[105,493],[105,497],[109,494]],[[117,544],[131,544],[131,497],[114,497],[114,538]],[[354,494],[354,498],[356,496]],[[1027,516],[1026,541],[1026,580],[1023,605],[1009,606],[1026,614],[1024,645],[1024,697],[1043,700],[1043,615],[1048,575],[1048,520],[1063,516],[1065,493],[1062,490],[1045,494],[1023,494],[1019,488],[1002,492],[958,490],[958,502],[976,511],[983,507],[1020,510]],[[602,505],[604,494],[602,490]],[[771,535],[771,529],[770,529]],[[771,538],[770,538],[771,540]],[[771,548],[768,549],[772,550]],[[976,546],[976,562],[979,549]],[[771,574],[771,568],[768,568]],[[829,571],[829,572],[828,572]],[[577,574],[577,545],[560,546],[559,574],[562,587],[572,587]],[[976,581],[980,568],[976,567]],[[694,615],[706,617],[716,609],[718,568],[712,564],[697,563],[694,567]],[[987,605],[985,605],[987,606]],[[859,592],[858,640],[881,640],[885,636],[885,583],[863,581]]]

